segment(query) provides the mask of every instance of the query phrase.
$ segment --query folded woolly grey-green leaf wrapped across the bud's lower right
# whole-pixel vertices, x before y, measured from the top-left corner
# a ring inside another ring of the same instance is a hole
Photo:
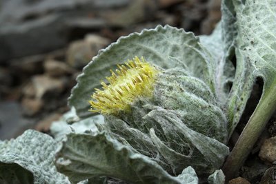
[[[181,164],[183,166],[190,164],[201,173],[210,173],[214,171],[214,168],[221,167],[225,157],[229,154],[226,145],[216,139],[211,139],[208,136],[191,130],[177,117],[177,113],[172,110],[152,110],[145,116],[145,119],[157,121],[161,123],[164,131],[175,134],[178,137],[179,148],[181,147],[181,143],[188,141],[190,144],[190,154],[181,155],[166,147],[151,130],[152,141],[159,148],[161,155],[165,158],[167,157],[168,162],[171,162],[170,164],[174,165],[176,170]]]

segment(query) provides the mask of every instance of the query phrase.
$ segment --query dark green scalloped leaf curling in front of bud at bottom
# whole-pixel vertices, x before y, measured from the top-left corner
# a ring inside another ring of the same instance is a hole
[[[97,176],[129,183],[186,183],[184,176],[170,176],[155,161],[112,139],[106,132],[68,134],[56,165],[72,183]]]

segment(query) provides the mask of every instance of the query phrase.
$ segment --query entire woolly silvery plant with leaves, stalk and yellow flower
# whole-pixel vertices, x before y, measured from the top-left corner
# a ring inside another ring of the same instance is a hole
[[[209,36],[158,25],[100,50],[77,78],[71,112],[53,123],[55,139],[28,130],[0,142],[1,183],[224,183],[224,174],[235,176],[276,109],[276,3],[222,1],[221,10]],[[228,156],[257,77],[262,98]]]

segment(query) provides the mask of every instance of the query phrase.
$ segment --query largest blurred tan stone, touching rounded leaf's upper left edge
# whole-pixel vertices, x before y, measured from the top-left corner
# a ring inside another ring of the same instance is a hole
[[[66,62],[73,68],[83,68],[99,50],[105,48],[110,41],[95,34],[88,34],[84,40],[70,43],[66,53]]]

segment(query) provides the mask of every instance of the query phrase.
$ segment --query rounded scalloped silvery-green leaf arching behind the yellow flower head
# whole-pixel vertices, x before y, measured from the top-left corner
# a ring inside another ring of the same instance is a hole
[[[135,56],[161,68],[186,68],[190,75],[204,81],[214,92],[213,61],[210,54],[199,44],[199,38],[183,29],[168,25],[155,29],[143,30],[121,37],[83,68],[77,78],[77,85],[72,90],[69,104],[75,107],[80,117],[91,116],[88,112],[90,95],[95,88],[101,88],[100,81],[110,76],[110,69]]]

